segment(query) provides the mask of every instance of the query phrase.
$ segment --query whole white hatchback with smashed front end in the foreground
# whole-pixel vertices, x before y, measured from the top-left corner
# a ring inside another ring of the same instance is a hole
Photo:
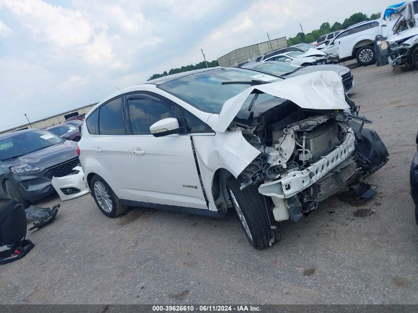
[[[279,241],[278,222],[297,222],[387,162],[368,122],[333,72],[286,80],[241,68],[176,74],[98,103],[78,143],[84,179],[63,183],[82,193],[88,186],[112,218],[129,206],[209,217],[234,208],[262,249]]]

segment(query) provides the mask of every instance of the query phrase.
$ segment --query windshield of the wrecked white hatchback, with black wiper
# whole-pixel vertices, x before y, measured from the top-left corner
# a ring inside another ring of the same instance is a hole
[[[177,96],[199,110],[219,114],[225,101],[248,89],[252,81],[277,82],[280,80],[278,77],[248,69],[218,68],[178,78],[161,84],[158,88]],[[225,84],[227,82],[235,84]]]

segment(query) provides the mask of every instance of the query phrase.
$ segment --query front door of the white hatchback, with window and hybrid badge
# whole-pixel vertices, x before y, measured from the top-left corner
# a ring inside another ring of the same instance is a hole
[[[149,127],[168,117],[183,125],[181,109],[168,100],[145,93],[126,97],[132,173],[149,203],[208,209],[198,174],[190,134],[154,137]]]

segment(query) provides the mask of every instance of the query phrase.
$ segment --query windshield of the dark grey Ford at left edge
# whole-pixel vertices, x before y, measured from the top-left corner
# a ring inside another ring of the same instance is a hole
[[[63,139],[44,130],[17,133],[4,139],[0,138],[0,161],[26,155],[63,141]]]

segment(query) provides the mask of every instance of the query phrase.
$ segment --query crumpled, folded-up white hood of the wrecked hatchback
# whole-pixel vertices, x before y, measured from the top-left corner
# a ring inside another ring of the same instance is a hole
[[[247,97],[254,90],[287,99],[301,108],[315,110],[349,109],[345,101],[341,77],[335,72],[315,72],[284,81],[252,86],[228,99],[212,127],[216,132],[225,132],[239,112]]]

